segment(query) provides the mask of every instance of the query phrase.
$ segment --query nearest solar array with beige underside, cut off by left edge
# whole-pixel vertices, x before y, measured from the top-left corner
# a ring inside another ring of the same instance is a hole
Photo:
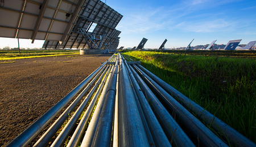
[[[46,6],[43,7],[43,4]],[[43,8],[46,11],[40,14]],[[75,8],[75,0],[5,1],[0,7],[0,37],[32,39],[32,34],[38,31],[36,40],[61,40]],[[39,19],[42,19],[41,23],[36,24]],[[37,26],[38,29],[35,29]]]

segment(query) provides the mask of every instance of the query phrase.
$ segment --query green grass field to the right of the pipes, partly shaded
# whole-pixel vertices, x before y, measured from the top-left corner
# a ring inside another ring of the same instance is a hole
[[[246,52],[220,51],[222,57],[216,51],[208,51],[214,55],[192,53],[184,57],[181,52],[127,51],[123,55],[141,61],[147,70],[255,142],[255,52],[250,58],[245,58]]]

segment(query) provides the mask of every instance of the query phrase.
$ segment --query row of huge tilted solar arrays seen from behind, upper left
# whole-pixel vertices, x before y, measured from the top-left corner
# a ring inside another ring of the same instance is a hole
[[[47,48],[85,48],[101,42],[101,49],[117,44],[121,33],[115,27],[122,15],[100,0],[9,0],[0,14],[0,37],[46,40]],[[91,40],[86,41],[79,28]]]

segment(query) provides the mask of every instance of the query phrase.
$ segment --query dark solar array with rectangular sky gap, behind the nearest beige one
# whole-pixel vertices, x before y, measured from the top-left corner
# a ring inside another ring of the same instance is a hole
[[[77,19],[75,27],[68,37],[68,40],[63,42],[61,45],[57,45],[57,48],[85,48],[89,47],[84,36],[79,31],[79,28],[84,29],[86,33],[93,37],[93,41],[96,44],[99,44],[100,39],[105,37],[102,40],[101,49],[106,49],[106,43],[116,40],[118,35],[121,33],[117,31],[115,27],[122,19],[122,15],[117,11],[110,8],[108,5],[101,1],[87,1],[85,2],[84,8]],[[92,23],[97,24],[92,32],[89,32],[89,29],[92,27]],[[118,32],[118,33],[117,33]],[[92,44],[91,40],[88,40]],[[57,41],[52,41],[51,46],[47,45],[48,48],[55,48]],[[44,44],[43,47],[46,44]]]

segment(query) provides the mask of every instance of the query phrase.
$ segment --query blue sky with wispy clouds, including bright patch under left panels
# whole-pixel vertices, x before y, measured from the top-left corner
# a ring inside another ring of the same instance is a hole
[[[122,33],[119,46],[138,46],[143,37],[145,48],[158,48],[167,38],[166,48],[210,44],[227,44],[242,39],[240,44],[256,40],[255,0],[103,0],[123,15],[117,25]],[[33,46],[20,41],[20,47]],[[23,45],[24,44],[24,45]],[[35,42],[41,47],[43,41]],[[0,38],[0,47],[18,46],[16,40]],[[34,45],[34,46],[35,46]]]

